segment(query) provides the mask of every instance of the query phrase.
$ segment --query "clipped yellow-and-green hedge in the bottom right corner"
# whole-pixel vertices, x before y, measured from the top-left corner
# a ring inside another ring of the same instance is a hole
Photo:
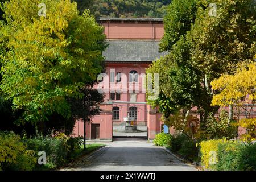
[[[216,152],[216,163],[209,163]],[[218,171],[255,171],[256,143],[242,143],[226,139],[208,140],[200,143],[201,164]]]

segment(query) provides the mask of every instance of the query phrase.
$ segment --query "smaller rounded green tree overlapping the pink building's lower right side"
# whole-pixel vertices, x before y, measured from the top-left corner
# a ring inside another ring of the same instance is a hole
[[[192,104],[200,97],[200,77],[197,76],[197,70],[191,69],[185,62],[190,57],[189,47],[189,43],[181,38],[170,54],[152,63],[146,71],[147,73],[159,73],[159,92],[164,95],[163,100],[166,98],[170,100],[150,102],[158,102],[155,105],[160,104],[160,110],[167,113],[167,117],[174,110],[191,109]],[[170,112],[165,109],[166,104],[169,105]]]

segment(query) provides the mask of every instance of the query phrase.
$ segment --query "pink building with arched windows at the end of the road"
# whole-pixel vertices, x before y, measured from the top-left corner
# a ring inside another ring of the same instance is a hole
[[[154,139],[163,130],[161,114],[146,104],[145,69],[160,56],[162,18],[101,18],[109,47],[104,52],[106,75],[94,88],[104,90],[101,113],[86,124],[86,139],[144,137]],[[120,91],[120,92],[119,92]],[[133,130],[126,130],[128,113]],[[84,135],[84,123],[77,122],[73,134]]]

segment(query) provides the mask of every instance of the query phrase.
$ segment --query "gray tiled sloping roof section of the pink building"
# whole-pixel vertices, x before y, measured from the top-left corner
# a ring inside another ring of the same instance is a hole
[[[103,53],[106,61],[152,62],[167,52],[159,53],[158,41],[109,40],[109,47]]]

